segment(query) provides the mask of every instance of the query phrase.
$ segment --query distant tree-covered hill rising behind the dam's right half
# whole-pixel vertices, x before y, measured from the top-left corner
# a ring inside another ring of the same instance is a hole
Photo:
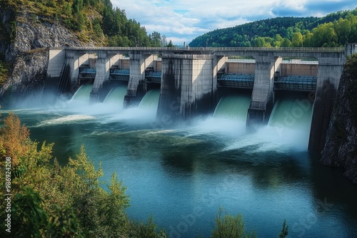
[[[321,47],[357,42],[357,8],[317,17],[277,17],[198,36],[191,47]]]

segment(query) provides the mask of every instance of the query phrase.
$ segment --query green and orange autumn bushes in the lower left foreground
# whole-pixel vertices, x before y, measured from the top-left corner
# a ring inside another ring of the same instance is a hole
[[[153,219],[142,224],[128,218],[126,187],[114,172],[105,190],[101,166],[96,170],[84,146],[66,166],[50,162],[53,144],[38,146],[10,113],[0,129],[0,176],[5,177],[5,158],[11,157],[11,237],[166,237],[156,232]],[[0,200],[2,221],[5,208]],[[0,230],[4,233],[5,227]]]

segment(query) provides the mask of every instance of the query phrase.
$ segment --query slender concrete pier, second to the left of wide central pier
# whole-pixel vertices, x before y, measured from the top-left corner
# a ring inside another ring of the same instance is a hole
[[[110,56],[104,51],[99,51],[98,58],[96,59],[96,78],[94,78],[91,90],[91,101],[98,101],[99,88],[103,86],[105,81],[109,80],[110,67]]]

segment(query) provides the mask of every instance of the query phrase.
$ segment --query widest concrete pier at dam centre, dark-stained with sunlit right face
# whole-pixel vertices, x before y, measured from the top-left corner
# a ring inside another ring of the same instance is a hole
[[[207,112],[215,90],[212,56],[164,56],[157,116],[177,120]]]

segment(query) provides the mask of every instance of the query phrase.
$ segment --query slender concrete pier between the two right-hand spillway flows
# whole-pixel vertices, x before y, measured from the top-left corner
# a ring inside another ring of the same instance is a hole
[[[256,70],[247,126],[268,123],[274,104],[274,73],[280,71],[282,62],[281,57],[269,52],[263,52],[261,56],[254,58]]]

